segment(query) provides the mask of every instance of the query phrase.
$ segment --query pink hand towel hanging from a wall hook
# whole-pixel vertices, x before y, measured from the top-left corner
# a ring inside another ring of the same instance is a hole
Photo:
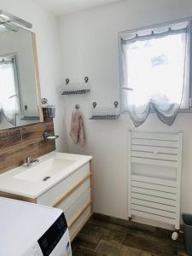
[[[73,139],[73,143],[80,143],[81,146],[84,145],[84,124],[79,111],[72,113],[70,136]]]

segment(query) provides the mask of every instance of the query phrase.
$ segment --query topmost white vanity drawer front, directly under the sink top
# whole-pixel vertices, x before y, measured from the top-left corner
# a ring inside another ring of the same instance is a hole
[[[44,192],[37,199],[38,204],[46,205],[49,207],[55,206],[55,202],[61,197],[65,197],[67,192],[73,189],[84,177],[89,177],[90,163],[80,167],[77,171],[73,172],[70,176],[64,178],[60,183],[55,184],[51,189]]]

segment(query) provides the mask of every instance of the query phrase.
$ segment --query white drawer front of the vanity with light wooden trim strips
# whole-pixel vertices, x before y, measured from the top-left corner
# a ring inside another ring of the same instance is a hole
[[[37,203],[65,213],[71,241],[91,216],[91,161],[37,198]]]

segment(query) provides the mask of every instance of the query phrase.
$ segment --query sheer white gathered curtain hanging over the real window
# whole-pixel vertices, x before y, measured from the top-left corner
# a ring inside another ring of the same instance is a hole
[[[190,24],[188,22],[122,38],[122,102],[135,126],[154,111],[167,125],[189,108]]]

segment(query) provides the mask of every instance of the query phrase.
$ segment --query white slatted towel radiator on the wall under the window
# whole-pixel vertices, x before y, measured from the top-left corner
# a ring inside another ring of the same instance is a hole
[[[149,218],[179,230],[182,141],[181,132],[129,131],[129,219]]]

